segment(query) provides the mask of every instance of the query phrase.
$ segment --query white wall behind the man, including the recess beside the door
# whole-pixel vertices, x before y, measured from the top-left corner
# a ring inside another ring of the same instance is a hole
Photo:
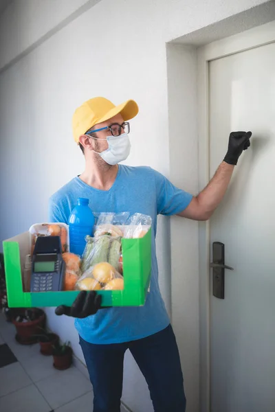
[[[74,14],[76,6],[89,2],[28,0],[24,8],[21,3],[14,1],[1,19],[12,19],[8,13],[14,10],[22,42],[8,23],[0,24],[4,31],[0,67],[8,68],[0,71],[1,240],[46,220],[50,194],[83,169],[70,125],[76,106],[91,96],[104,95],[115,103],[137,100],[140,115],[132,122],[133,149],[127,163],[151,165],[196,192],[195,71],[190,76],[195,56],[190,51],[183,58],[180,49],[170,48],[167,67],[166,42],[264,1],[102,0],[82,14]],[[62,4],[58,12],[57,3]],[[76,18],[70,21],[69,16]],[[68,19],[67,23],[54,31],[61,19]],[[52,36],[39,43],[49,32]],[[19,54],[22,58],[17,61]],[[173,65],[178,68],[175,72]],[[186,130],[184,123],[190,118]],[[168,310],[172,264],[173,325],[184,366],[188,412],[197,412],[197,223],[172,218],[170,227],[168,219],[160,218],[159,235],[159,271]],[[55,317],[52,309],[47,315],[50,327],[70,339],[81,358],[72,320]],[[129,356],[123,400],[135,412],[152,411],[144,379]]]

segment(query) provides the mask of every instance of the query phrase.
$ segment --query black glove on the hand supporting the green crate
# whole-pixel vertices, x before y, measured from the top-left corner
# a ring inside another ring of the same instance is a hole
[[[58,315],[67,314],[67,316],[85,318],[98,312],[101,306],[101,300],[101,296],[94,290],[91,290],[91,292],[81,290],[72,306],[58,306],[55,312]]]

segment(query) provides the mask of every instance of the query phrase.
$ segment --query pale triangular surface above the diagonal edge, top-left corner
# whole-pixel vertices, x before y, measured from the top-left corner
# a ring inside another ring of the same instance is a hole
[[[0,69],[100,0],[11,0],[0,16]]]

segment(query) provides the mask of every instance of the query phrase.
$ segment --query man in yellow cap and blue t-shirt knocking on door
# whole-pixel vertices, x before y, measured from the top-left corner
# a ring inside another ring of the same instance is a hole
[[[183,377],[177,343],[159,292],[155,233],[157,214],[207,220],[219,205],[234,165],[250,146],[252,133],[231,133],[228,152],[208,186],[198,195],[179,190],[151,168],[118,165],[129,155],[130,126],[137,104],[115,106],[94,98],[73,117],[74,139],[85,155],[85,170],[50,199],[50,221],[68,222],[78,197],[89,198],[94,212],[129,211],[151,216],[152,271],[146,304],[137,308],[100,308],[96,292],[80,292],[72,307],[59,306],[56,314],[76,318],[91,383],[94,412],[119,412],[123,359],[127,349],[148,383],[155,412],[184,412]]]

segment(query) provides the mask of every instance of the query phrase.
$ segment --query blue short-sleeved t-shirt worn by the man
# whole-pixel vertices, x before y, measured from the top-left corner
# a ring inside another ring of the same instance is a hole
[[[122,343],[142,339],[157,333],[170,323],[159,291],[155,235],[157,214],[170,216],[186,209],[192,195],[179,190],[162,174],[147,167],[119,165],[112,187],[98,190],[72,179],[50,198],[50,222],[68,223],[77,198],[89,198],[94,212],[136,212],[151,216],[152,270],[151,286],[144,306],[100,309],[85,319],[76,319],[75,326],[87,342],[96,344]]]

